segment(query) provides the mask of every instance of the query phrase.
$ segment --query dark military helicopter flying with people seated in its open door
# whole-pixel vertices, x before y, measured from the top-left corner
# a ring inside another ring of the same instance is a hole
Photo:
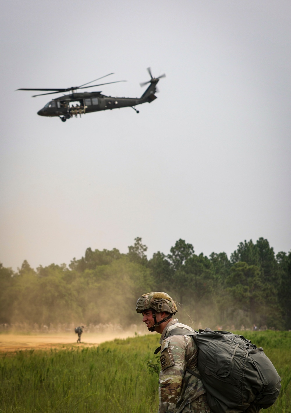
[[[141,97],[111,97],[102,95],[101,92],[77,92],[78,89],[86,89],[86,88],[94,88],[97,86],[102,85],[109,85],[111,83],[118,83],[118,82],[125,82],[125,81],[116,81],[116,82],[108,82],[108,83],[99,83],[98,85],[90,85],[90,83],[103,79],[107,76],[113,75],[113,73],[109,73],[105,76],[92,80],[91,82],[84,83],[80,86],[73,86],[71,88],[66,89],[26,89],[21,88],[17,90],[38,90],[38,91],[47,91],[48,93],[41,93],[39,95],[33,95],[32,97],[36,96],[43,96],[43,95],[53,95],[54,93],[62,93],[62,92],[71,92],[70,95],[63,95],[52,99],[48,102],[43,109],[38,111],[38,115],[40,116],[58,116],[63,122],[71,117],[75,116],[78,117],[82,114],[91,113],[91,112],[99,112],[100,110],[107,110],[107,109],[117,109],[121,107],[132,107],[136,113],[139,113],[135,106],[138,104],[142,104],[145,102],[151,103],[153,100],[156,99],[155,93],[158,92],[156,88],[156,84],[159,80],[165,77],[165,74],[154,78],[151,74],[151,68],[148,67],[147,71],[149,72],[149,76],[151,77],[149,81],[140,83],[141,86],[147,85],[149,86],[147,90],[142,94]]]

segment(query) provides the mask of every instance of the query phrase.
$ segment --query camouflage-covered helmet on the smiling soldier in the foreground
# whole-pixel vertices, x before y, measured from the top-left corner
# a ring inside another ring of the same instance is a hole
[[[175,301],[169,296],[169,294],[162,291],[148,292],[147,294],[143,294],[137,300],[137,313],[142,313],[143,311],[149,309],[153,309],[157,313],[167,311],[170,314],[175,314],[178,311]]]

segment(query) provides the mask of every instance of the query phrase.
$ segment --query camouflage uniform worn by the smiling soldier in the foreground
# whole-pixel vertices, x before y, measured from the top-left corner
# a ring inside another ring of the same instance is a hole
[[[173,335],[170,330],[182,327],[177,318],[170,320],[161,335],[161,372],[159,378],[159,413],[210,413],[206,390],[200,379],[186,370],[199,374],[198,347],[192,336]]]

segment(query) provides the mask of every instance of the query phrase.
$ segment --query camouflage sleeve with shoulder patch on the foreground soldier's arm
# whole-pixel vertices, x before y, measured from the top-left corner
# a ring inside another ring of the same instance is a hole
[[[159,379],[159,413],[174,413],[185,373],[187,344],[185,336],[165,340],[161,350]]]

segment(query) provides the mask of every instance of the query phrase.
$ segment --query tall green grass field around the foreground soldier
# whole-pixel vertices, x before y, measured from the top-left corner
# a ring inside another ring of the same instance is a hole
[[[266,412],[291,412],[291,332],[244,332],[282,377]],[[116,339],[97,348],[28,350],[0,356],[0,412],[150,413],[158,406],[159,335]]]

